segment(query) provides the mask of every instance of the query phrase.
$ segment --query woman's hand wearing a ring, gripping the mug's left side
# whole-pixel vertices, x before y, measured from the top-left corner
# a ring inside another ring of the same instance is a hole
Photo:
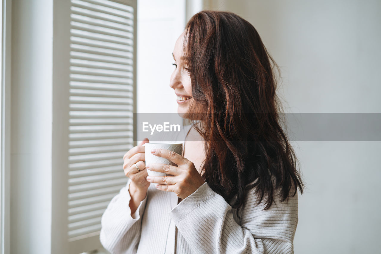
[[[123,156],[123,170],[126,177],[131,179],[131,183],[133,183],[136,189],[140,191],[147,191],[150,182],[147,181],[147,169],[145,162],[145,153],[144,153],[144,144],[149,142],[148,138],[144,138],[144,140],[138,146],[134,146],[131,148],[124,156]],[[135,166],[139,167],[140,171]]]

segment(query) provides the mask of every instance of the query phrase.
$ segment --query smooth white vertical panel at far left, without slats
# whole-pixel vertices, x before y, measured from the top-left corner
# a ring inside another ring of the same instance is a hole
[[[51,251],[53,1],[12,1],[11,253]]]

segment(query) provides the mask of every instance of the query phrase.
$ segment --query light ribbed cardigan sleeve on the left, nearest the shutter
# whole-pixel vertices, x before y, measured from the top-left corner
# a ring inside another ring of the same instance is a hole
[[[138,209],[131,217],[130,187],[131,180],[112,198],[101,219],[99,239],[103,247],[112,254],[136,253],[141,233],[141,217],[147,201],[140,202]]]

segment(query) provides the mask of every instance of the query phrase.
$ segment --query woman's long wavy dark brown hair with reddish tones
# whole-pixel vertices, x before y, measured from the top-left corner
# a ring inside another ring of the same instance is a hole
[[[194,98],[188,117],[205,140],[204,180],[227,202],[235,198],[238,217],[251,188],[257,204],[267,197],[264,209],[271,207],[275,188],[281,201],[298,188],[303,193],[295,152],[280,126],[279,67],[256,29],[231,12],[201,11],[185,32]]]

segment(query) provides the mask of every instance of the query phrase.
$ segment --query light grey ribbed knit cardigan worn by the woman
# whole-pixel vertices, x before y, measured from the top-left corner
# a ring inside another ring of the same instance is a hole
[[[189,128],[182,128],[182,134]],[[112,254],[294,253],[298,195],[283,202],[276,195],[270,209],[263,210],[266,199],[256,205],[258,196],[250,190],[238,219],[232,202],[206,182],[179,204],[173,192],[151,183],[131,216],[130,182],[102,215],[99,238]]]

